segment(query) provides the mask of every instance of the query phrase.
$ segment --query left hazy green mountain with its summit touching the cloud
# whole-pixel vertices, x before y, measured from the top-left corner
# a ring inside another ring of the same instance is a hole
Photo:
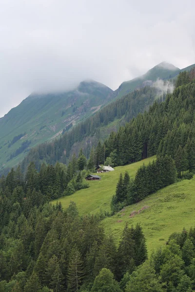
[[[0,119],[0,165],[17,164],[29,148],[99,110],[111,92],[101,83],[86,80],[72,91],[31,94]]]

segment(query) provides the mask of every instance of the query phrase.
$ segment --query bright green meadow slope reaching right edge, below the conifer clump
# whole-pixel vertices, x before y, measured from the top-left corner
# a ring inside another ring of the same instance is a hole
[[[133,211],[148,208],[130,217]],[[126,207],[111,218],[102,221],[106,232],[112,232],[118,241],[124,225],[140,223],[147,239],[149,254],[165,245],[173,232],[195,226],[195,177],[184,180],[150,195],[145,200]]]

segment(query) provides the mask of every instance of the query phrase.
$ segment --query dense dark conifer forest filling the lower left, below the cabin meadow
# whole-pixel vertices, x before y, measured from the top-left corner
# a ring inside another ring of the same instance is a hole
[[[147,258],[141,227],[126,225],[117,246],[100,215],[80,217],[73,202],[65,211],[45,203],[38,173],[26,175],[25,185],[20,169],[0,184],[0,291],[97,291],[103,268],[120,291],[123,275]]]

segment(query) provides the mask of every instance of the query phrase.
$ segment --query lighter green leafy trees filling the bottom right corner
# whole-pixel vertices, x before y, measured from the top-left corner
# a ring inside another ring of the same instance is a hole
[[[173,233],[164,248],[124,278],[125,292],[195,291],[195,228]]]

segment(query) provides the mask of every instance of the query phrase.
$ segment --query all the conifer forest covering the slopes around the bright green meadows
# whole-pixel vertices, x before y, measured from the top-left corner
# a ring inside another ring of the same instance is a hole
[[[172,234],[148,257],[139,224],[126,224],[117,242],[104,231],[102,214],[80,216],[74,202],[66,210],[60,202],[50,203],[87,188],[83,178],[104,162],[125,165],[156,155],[134,179],[120,175],[113,213],[176,180],[193,177],[194,71],[180,73],[173,93],[138,114],[134,106],[140,101],[145,109],[144,91],[151,91],[155,100],[151,88],[125,95],[61,138],[33,148],[21,165],[0,178],[0,292],[195,291],[194,226]],[[127,123],[91,147],[88,160],[80,150],[65,165],[75,142],[123,115]]]

